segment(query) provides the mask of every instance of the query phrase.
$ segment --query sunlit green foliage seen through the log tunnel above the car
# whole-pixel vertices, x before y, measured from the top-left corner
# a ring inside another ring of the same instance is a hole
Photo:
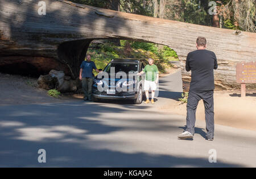
[[[176,52],[170,47],[163,46],[158,48],[157,44],[141,41],[120,40],[121,46],[116,46],[112,42],[91,45],[88,54],[92,55],[92,61],[98,69],[104,69],[112,59],[137,58],[137,59],[155,59],[155,64],[160,72],[165,72],[166,68],[172,65],[171,60],[178,60]],[[130,47],[130,55],[125,53],[126,48]],[[94,71],[94,75],[97,73]]]

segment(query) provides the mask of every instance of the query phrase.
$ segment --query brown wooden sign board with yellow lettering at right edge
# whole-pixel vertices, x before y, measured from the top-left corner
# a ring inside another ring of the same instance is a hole
[[[237,64],[237,83],[256,84],[256,62]]]

